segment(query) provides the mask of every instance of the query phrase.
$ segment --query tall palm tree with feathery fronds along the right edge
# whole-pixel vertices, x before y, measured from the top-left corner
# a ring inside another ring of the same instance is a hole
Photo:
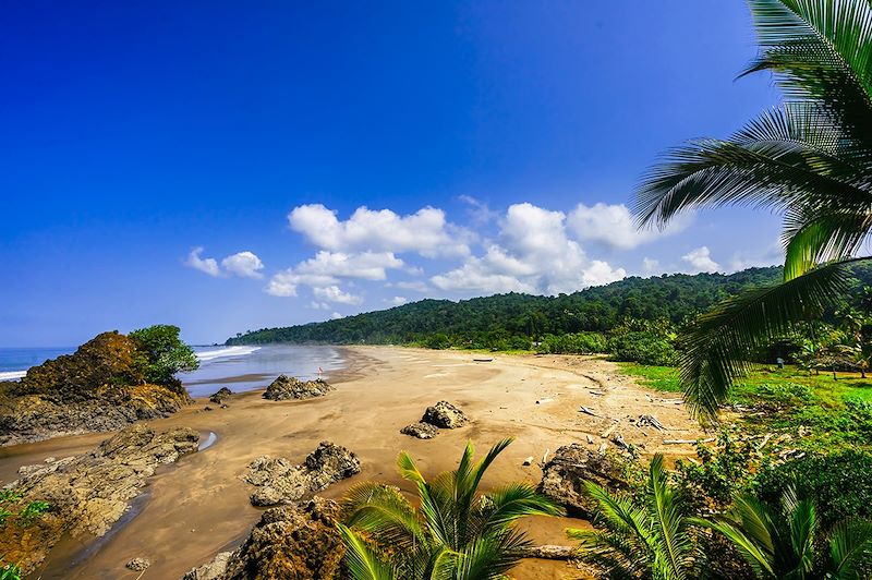
[[[743,74],[772,72],[784,102],[728,140],[673,149],[634,203],[643,227],[724,205],[784,214],[784,281],[722,303],[682,336],[686,399],[704,421],[754,350],[844,295],[849,256],[872,229],[872,3],[749,5],[761,50]]]

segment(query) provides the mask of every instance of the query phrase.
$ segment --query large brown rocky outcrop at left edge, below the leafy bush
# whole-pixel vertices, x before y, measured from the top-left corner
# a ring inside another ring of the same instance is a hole
[[[0,445],[116,431],[191,402],[181,383],[145,384],[136,349],[129,337],[104,333],[20,382],[0,383]]]

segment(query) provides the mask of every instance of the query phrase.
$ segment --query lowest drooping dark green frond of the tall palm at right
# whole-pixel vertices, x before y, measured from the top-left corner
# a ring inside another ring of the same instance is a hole
[[[680,338],[681,383],[691,413],[716,420],[735,377],[748,370],[749,354],[834,303],[846,290],[845,268],[852,262],[748,290],[701,315]]]

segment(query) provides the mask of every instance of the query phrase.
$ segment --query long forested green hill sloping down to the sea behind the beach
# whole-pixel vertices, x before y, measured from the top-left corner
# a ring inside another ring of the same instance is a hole
[[[872,279],[863,270],[861,277]],[[459,302],[422,300],[336,321],[264,328],[227,343],[399,345],[446,335],[453,343],[487,347],[512,336],[606,331],[627,318],[680,323],[728,295],[780,277],[780,267],[750,268],[731,275],[631,277],[556,297],[509,293]]]

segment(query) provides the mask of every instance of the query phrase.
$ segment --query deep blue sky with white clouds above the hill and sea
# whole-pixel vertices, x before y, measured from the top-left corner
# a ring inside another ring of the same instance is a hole
[[[777,216],[625,205],[777,104],[739,0],[250,4],[7,5],[0,346],[779,259]]]

